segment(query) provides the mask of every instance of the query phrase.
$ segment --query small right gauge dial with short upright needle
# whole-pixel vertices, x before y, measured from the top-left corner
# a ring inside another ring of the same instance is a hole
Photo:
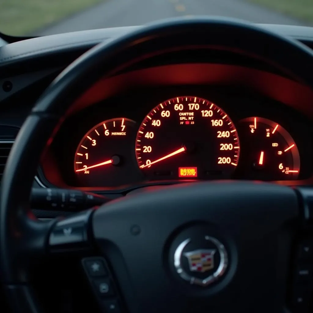
[[[290,180],[300,172],[295,141],[279,124],[261,117],[239,122],[242,156],[238,174],[247,179]]]

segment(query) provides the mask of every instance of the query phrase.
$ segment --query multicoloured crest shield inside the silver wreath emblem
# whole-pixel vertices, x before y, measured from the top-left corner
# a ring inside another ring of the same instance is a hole
[[[203,273],[213,269],[215,252],[216,249],[199,249],[184,253],[188,259],[190,271]]]

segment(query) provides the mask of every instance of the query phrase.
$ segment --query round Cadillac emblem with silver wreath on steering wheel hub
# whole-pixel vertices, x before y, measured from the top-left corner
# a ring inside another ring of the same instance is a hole
[[[187,238],[174,252],[174,267],[183,280],[206,287],[224,275],[228,254],[222,242],[210,235]]]

